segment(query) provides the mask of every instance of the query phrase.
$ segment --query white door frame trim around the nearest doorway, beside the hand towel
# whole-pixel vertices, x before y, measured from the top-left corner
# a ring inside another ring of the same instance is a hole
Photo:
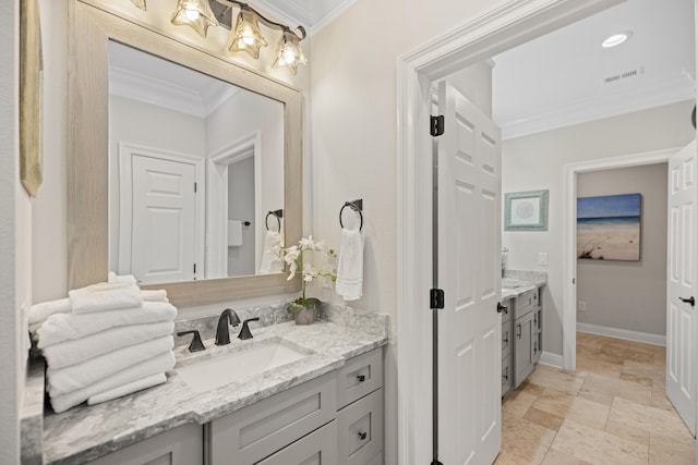
[[[398,462],[431,463],[431,84],[478,61],[623,0],[513,0],[398,58],[397,351]]]

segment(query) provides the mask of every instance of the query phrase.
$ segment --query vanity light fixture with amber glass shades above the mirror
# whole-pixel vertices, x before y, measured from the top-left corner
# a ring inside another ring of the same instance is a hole
[[[145,0],[131,1],[145,10]],[[234,27],[232,25],[232,7],[240,9]],[[206,37],[209,26],[229,28],[231,38],[228,50],[231,52],[245,51],[254,59],[260,58],[262,47],[268,46],[267,40],[260,32],[260,22],[268,28],[281,30],[276,59],[272,68],[288,66],[291,73],[296,74],[299,64],[308,64],[308,59],[299,45],[308,36],[303,26],[291,29],[285,24],[265,17],[248,3],[238,0],[178,0],[177,10],[172,15],[172,24],[190,26],[202,37]]]

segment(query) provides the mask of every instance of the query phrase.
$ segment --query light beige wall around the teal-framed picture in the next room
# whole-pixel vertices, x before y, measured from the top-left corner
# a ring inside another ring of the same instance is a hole
[[[506,140],[503,144],[503,192],[550,189],[545,232],[504,232],[509,268],[547,271],[543,292],[543,351],[563,347],[563,167],[567,163],[681,147],[694,137],[693,102],[578,124]],[[547,267],[538,253],[547,253]]]

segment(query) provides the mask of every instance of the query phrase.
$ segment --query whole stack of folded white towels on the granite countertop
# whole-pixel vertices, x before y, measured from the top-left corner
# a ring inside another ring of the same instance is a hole
[[[27,319],[48,365],[53,411],[166,382],[176,316],[165,291],[141,291],[133,277],[113,273],[69,298],[32,306]]]

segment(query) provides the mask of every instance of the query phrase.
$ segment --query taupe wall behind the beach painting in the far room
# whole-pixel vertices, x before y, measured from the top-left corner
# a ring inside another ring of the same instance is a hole
[[[577,260],[578,323],[666,334],[666,163],[580,173],[578,197],[641,194],[640,261]]]

